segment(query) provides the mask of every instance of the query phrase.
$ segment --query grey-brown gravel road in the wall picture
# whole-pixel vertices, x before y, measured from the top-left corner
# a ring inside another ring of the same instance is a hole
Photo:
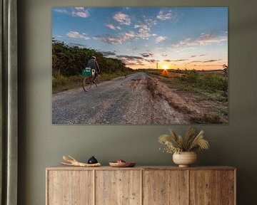
[[[133,73],[93,86],[53,95],[53,124],[186,124],[185,115],[158,96],[156,80]]]

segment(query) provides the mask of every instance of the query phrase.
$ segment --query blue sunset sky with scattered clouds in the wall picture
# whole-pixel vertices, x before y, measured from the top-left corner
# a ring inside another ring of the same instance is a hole
[[[213,70],[228,63],[226,7],[55,7],[52,17],[56,40],[130,68]]]

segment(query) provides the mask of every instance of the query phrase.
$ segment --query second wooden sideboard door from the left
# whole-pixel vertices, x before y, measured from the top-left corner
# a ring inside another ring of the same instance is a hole
[[[96,205],[141,204],[141,171],[96,171]]]

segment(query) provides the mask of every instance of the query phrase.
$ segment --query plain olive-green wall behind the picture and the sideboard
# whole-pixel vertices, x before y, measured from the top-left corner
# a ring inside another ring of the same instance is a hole
[[[19,17],[19,204],[45,203],[45,167],[62,154],[102,164],[123,158],[141,165],[170,165],[157,137],[186,125],[51,125],[51,6],[228,6],[229,122],[195,125],[212,139],[199,165],[238,169],[238,204],[256,204],[257,15],[254,0],[240,1],[58,1],[18,2]],[[197,25],[196,25],[197,26]]]

